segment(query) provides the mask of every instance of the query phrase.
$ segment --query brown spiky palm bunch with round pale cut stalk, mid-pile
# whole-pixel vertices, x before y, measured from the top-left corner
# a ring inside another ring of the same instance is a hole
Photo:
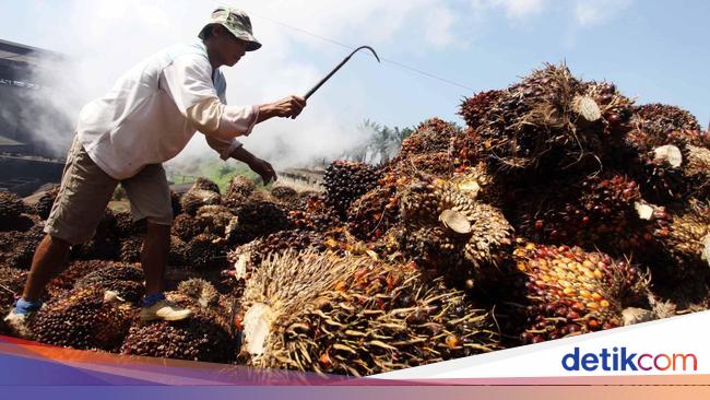
[[[406,183],[400,208],[400,247],[405,255],[457,285],[485,279],[509,254],[512,227],[502,213],[446,180],[421,177]]]

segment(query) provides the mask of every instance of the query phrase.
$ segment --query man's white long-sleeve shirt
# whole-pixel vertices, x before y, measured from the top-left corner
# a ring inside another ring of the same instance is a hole
[[[176,156],[197,130],[223,160],[241,144],[258,106],[227,106],[226,81],[202,43],[176,45],[139,63],[102,98],[85,105],[78,134],[90,157],[115,179]]]

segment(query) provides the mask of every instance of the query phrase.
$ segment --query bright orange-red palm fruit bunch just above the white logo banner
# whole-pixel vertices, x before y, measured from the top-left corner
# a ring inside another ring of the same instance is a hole
[[[522,243],[513,256],[529,303],[523,343],[619,327],[623,309],[649,294],[637,268],[602,252]]]

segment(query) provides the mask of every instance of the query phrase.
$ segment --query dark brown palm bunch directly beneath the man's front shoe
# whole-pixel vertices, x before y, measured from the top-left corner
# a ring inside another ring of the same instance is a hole
[[[168,298],[174,296],[167,294]],[[181,321],[135,323],[120,352],[128,355],[229,363],[236,355],[235,340],[210,309],[190,308],[193,315]]]

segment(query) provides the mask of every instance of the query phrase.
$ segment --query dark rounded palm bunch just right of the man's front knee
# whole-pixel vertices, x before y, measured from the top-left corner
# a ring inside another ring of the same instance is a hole
[[[250,201],[235,214],[237,224],[228,232],[229,244],[241,245],[292,227],[286,209],[271,201]]]

